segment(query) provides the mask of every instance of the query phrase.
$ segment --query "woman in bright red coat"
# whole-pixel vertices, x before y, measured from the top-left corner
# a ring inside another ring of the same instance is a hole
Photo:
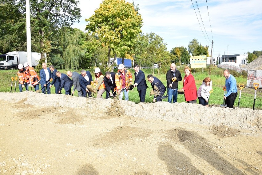
[[[184,77],[184,87],[182,91],[185,93],[185,101],[188,103],[196,103],[196,83],[193,75],[191,74],[191,69],[185,67],[185,77]]]

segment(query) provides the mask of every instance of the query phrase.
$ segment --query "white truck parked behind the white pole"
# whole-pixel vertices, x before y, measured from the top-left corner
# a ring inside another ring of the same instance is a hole
[[[32,66],[38,65],[41,58],[40,53],[32,52]],[[0,55],[0,70],[18,69],[18,64],[27,62],[27,52],[14,51]]]

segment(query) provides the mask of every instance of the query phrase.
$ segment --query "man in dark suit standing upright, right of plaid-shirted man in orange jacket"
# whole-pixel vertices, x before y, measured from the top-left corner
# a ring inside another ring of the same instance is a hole
[[[134,65],[134,70],[135,70],[134,86],[137,87],[140,102],[145,102],[146,88],[148,88],[145,81],[145,73],[139,69],[139,66],[137,64]]]

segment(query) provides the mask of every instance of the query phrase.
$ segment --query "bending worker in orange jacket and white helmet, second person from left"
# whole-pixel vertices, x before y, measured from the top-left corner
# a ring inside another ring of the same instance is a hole
[[[34,70],[33,67],[29,66],[28,62],[25,62],[24,67],[27,71],[27,79],[28,79],[28,83],[31,83],[31,85],[34,87],[35,92],[40,92],[39,90],[39,82],[40,82],[40,78],[38,76],[38,74],[36,73],[36,71]]]

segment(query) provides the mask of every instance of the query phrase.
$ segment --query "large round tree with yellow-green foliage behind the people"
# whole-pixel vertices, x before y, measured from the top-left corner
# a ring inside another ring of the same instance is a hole
[[[125,0],[104,0],[95,14],[85,21],[89,22],[86,30],[97,36],[103,47],[108,48],[108,67],[111,66],[111,50],[115,58],[116,53],[123,57],[128,54],[142,26],[141,15],[137,15],[132,3]]]

